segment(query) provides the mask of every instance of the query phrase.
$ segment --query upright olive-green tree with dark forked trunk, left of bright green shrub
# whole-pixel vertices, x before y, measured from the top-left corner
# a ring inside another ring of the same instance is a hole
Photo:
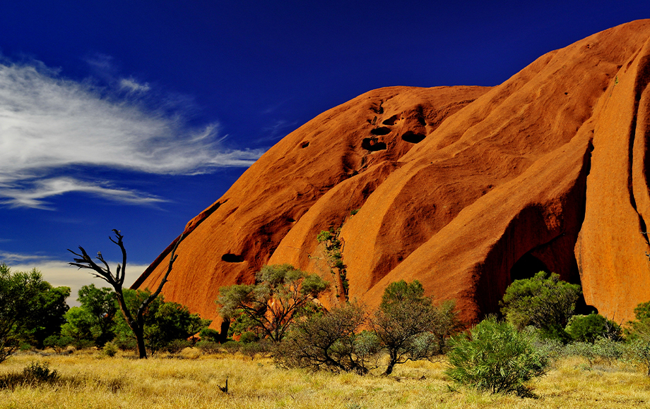
[[[386,375],[395,365],[442,353],[445,339],[458,326],[453,303],[437,308],[424,292],[418,280],[396,281],[384,290],[372,329],[389,355]]]

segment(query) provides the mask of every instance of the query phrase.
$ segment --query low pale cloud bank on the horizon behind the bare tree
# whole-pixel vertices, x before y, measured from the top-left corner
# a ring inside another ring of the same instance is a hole
[[[38,269],[45,281],[52,284],[54,287],[66,286],[70,287],[71,295],[67,300],[69,305],[79,305],[76,302],[77,293],[79,288],[94,283],[98,287],[108,287],[108,283],[97,279],[88,274],[85,269],[78,269],[68,264],[66,261],[52,260],[49,257],[22,255],[17,253],[9,253],[0,251],[0,263],[6,263],[11,267],[11,271],[30,271],[35,268]],[[117,262],[109,262],[111,269],[117,269]],[[126,277],[124,283],[126,286],[131,286],[136,279],[147,268],[147,265],[141,264],[127,264]]]

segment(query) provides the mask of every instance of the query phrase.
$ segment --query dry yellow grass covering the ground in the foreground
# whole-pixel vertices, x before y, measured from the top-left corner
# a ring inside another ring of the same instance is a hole
[[[449,390],[443,362],[413,362],[391,377],[282,370],[268,359],[185,351],[183,359],[134,360],[99,353],[16,355],[0,376],[34,360],[61,374],[52,385],[0,390],[0,408],[650,408],[650,379],[627,365],[557,362],[534,384],[539,398]],[[420,379],[422,377],[425,379]],[[230,393],[222,393],[229,377]]]

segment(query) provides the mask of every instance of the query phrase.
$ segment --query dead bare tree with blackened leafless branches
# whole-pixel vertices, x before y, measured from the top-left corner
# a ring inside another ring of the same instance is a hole
[[[160,281],[160,284],[158,285],[158,289],[154,293],[148,296],[140,307],[138,307],[138,310],[136,312],[136,317],[134,319],[133,315],[131,314],[131,311],[129,310],[129,307],[126,305],[126,302],[124,300],[124,294],[122,293],[122,286],[124,285],[124,274],[126,272],[126,249],[124,248],[124,243],[122,243],[122,234],[119,233],[119,230],[113,229],[113,233],[115,233],[115,239],[109,236],[109,239],[117,244],[122,250],[122,264],[117,264],[117,271],[115,274],[112,273],[110,270],[110,267],[108,266],[108,263],[104,260],[104,257],[102,257],[102,252],[97,252],[97,260],[100,260],[102,264],[104,264],[104,267],[101,267],[100,265],[96,264],[92,258],[88,255],[87,252],[79,246],[79,250],[81,250],[81,254],[78,254],[76,252],[73,252],[72,250],[68,249],[69,252],[71,252],[73,255],[76,255],[79,258],[75,258],[74,262],[68,263],[71,266],[76,266],[79,267],[80,269],[91,269],[95,272],[90,273],[93,274],[93,276],[98,277],[99,279],[102,279],[109,283],[113,289],[115,290],[115,293],[117,294],[117,300],[119,303],[119,308],[122,310],[122,314],[124,315],[124,319],[126,319],[126,323],[129,324],[129,327],[131,330],[133,330],[135,336],[136,336],[136,341],[138,342],[138,353],[140,355],[140,358],[147,358],[147,352],[145,349],[144,345],[144,312],[147,308],[147,306],[155,300],[156,297],[160,294],[160,291],[162,291],[162,286],[165,285],[167,282],[167,276],[170,275],[170,272],[172,271],[172,267],[174,265],[174,262],[177,259],[176,249],[178,248],[178,245],[181,243],[183,240],[183,235],[181,235],[174,248],[172,249],[172,252],[170,253],[170,264],[167,267],[167,272],[165,272],[165,276],[162,277],[162,280]],[[116,241],[117,240],[117,241]]]

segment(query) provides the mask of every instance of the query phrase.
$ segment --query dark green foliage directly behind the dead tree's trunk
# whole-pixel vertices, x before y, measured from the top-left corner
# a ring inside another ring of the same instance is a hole
[[[124,289],[124,301],[132,313],[149,295],[149,291]],[[116,314],[114,319],[117,345],[129,349],[131,346],[135,346],[135,335],[126,324],[124,316]],[[210,325],[210,322],[208,319],[201,319],[199,315],[191,314],[184,305],[165,302],[165,298],[159,295],[148,305],[143,314],[146,348],[151,355],[155,355],[172,341],[185,340]]]

